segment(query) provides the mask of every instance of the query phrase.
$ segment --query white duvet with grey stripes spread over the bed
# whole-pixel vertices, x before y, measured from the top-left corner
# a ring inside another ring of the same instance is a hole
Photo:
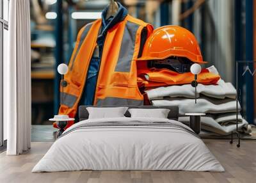
[[[93,122],[156,125],[84,127]],[[161,122],[173,127],[161,126]],[[204,142],[180,122],[161,118],[105,118],[72,125],[32,171],[73,170],[224,171],[224,168]]]

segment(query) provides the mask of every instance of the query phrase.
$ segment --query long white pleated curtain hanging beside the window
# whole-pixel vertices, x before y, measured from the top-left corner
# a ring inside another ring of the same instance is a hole
[[[10,1],[8,60],[4,61],[4,120],[8,155],[31,144],[31,57],[29,0]]]

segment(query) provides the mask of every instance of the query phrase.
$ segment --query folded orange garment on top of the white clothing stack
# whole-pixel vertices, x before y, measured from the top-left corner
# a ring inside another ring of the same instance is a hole
[[[216,84],[220,76],[212,74],[209,70],[203,68],[197,76],[197,82],[201,84]],[[191,72],[177,73],[166,68],[148,68],[138,70],[138,86],[145,88],[154,88],[159,86],[189,84],[195,80]]]

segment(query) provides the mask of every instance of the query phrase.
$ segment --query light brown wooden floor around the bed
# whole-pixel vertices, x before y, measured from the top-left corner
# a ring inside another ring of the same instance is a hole
[[[242,141],[241,148],[227,140],[205,139],[205,144],[224,166],[225,172],[194,171],[70,171],[31,173],[31,169],[51,147],[51,142],[32,143],[19,156],[0,154],[0,182],[256,182],[256,141]]]

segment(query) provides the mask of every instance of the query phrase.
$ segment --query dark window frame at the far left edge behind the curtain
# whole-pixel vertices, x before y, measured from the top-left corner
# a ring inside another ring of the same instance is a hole
[[[9,0],[8,4],[10,3]],[[0,0],[0,151],[6,147],[4,141],[4,121],[3,121],[3,59],[4,59],[4,29],[8,31],[8,21],[4,20],[4,0]],[[9,8],[9,6],[8,6]],[[9,17],[8,17],[9,18]]]

